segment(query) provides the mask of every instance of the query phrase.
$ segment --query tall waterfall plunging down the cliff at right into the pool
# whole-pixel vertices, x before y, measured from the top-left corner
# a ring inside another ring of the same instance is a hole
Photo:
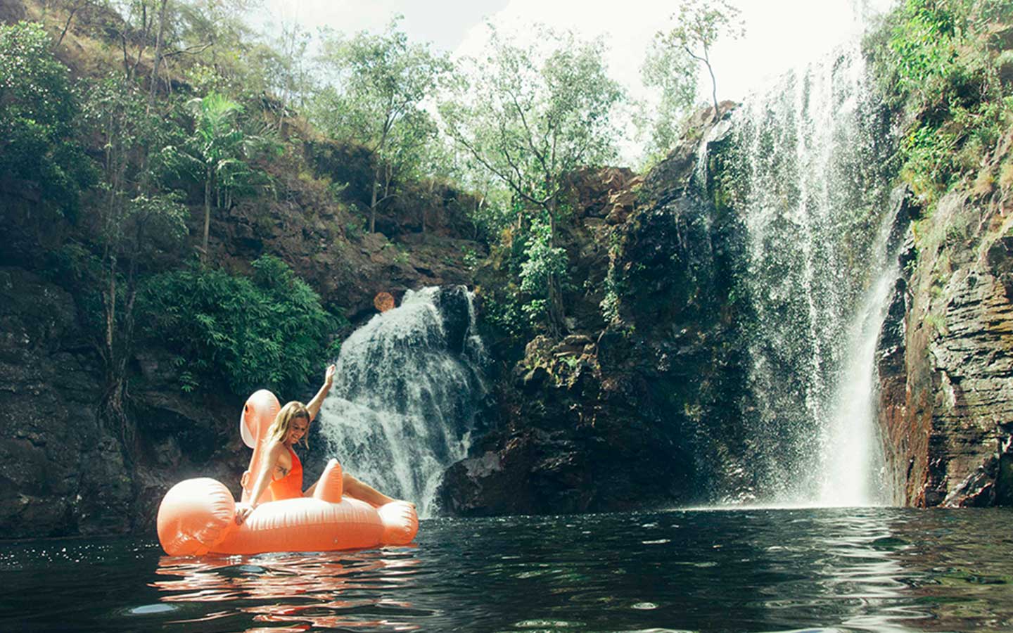
[[[891,142],[857,45],[748,99],[732,143],[758,500],[881,502],[873,355],[897,275]]]

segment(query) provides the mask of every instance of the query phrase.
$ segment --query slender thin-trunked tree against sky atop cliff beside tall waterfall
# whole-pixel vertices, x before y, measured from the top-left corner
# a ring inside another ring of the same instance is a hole
[[[715,118],[717,80],[714,78],[714,68],[710,63],[710,51],[722,34],[734,39],[746,33],[743,21],[738,17],[739,13],[741,11],[728,4],[727,0],[684,0],[679,7],[679,13],[672,15],[673,20],[678,20],[678,25],[667,33],[658,31],[654,36],[654,52],[651,55],[660,62],[663,68],[668,68],[673,73],[668,81],[674,82],[669,88],[674,96],[685,95],[687,86],[679,86],[680,80],[691,82],[694,91],[696,89],[695,73],[687,72],[685,62],[679,61],[676,55],[685,54],[707,67]]]

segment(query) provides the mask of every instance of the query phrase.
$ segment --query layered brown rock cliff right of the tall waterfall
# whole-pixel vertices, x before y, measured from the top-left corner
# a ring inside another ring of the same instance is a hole
[[[951,228],[987,226],[991,211],[940,201],[931,230],[946,237],[923,236],[909,256],[880,334],[879,418],[900,503],[1013,501],[1013,251],[1008,237],[964,241]]]

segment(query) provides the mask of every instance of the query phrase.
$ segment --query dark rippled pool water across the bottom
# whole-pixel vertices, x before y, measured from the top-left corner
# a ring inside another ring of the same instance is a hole
[[[417,545],[170,558],[0,549],[2,631],[1013,630],[1013,511],[433,520]]]

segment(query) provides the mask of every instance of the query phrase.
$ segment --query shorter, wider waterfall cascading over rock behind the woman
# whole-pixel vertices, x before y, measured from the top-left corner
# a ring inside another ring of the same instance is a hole
[[[467,456],[484,353],[463,288],[408,291],[341,345],[321,407],[328,453],[428,516],[444,470]]]

